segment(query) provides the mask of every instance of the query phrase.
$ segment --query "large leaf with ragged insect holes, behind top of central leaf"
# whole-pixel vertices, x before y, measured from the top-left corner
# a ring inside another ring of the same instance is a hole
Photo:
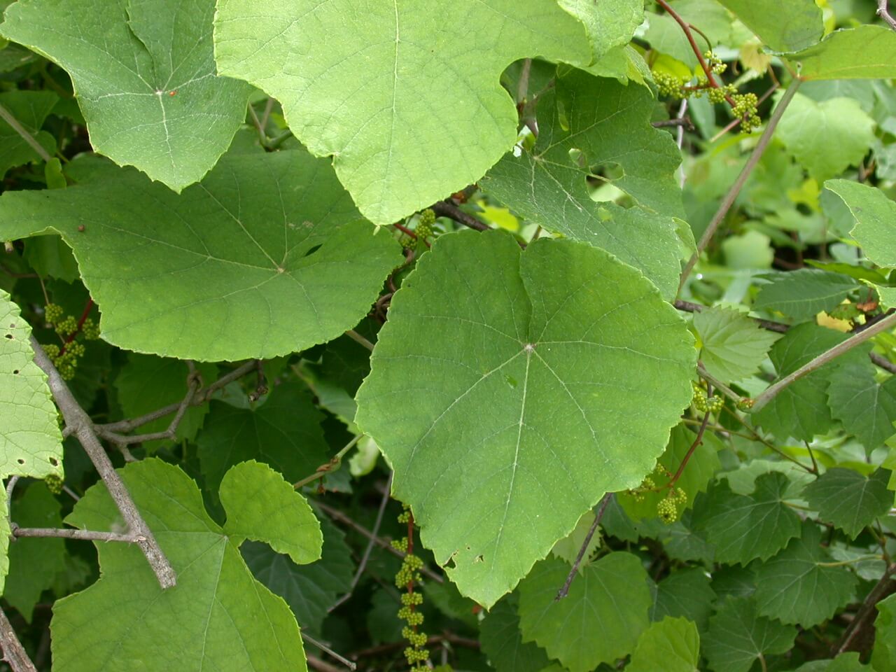
[[[680,154],[671,135],[650,126],[650,90],[578,70],[556,87],[538,100],[535,146],[506,154],[481,185],[542,227],[616,254],[673,297],[682,252],[669,215],[682,213],[674,178]],[[604,163],[622,168],[611,182],[644,208],[591,199],[586,178]]]

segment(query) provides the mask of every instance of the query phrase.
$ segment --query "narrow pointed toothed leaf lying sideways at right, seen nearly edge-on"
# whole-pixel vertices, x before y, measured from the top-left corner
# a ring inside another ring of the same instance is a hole
[[[753,302],[755,310],[777,310],[796,320],[814,320],[816,314],[840,305],[849,292],[861,287],[841,273],[817,269],[797,269],[762,276],[771,282],[762,285]]]

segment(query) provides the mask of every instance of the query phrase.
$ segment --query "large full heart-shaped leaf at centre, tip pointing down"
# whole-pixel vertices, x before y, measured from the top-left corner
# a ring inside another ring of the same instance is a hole
[[[641,273],[571,240],[522,253],[504,232],[461,231],[419,261],[356,419],[461,593],[491,606],[653,467],[692,396],[675,313]]]

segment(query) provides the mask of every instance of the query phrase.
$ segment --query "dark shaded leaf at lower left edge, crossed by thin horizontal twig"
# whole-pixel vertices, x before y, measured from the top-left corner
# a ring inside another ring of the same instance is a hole
[[[62,506],[43,483],[31,483],[15,499],[12,519],[22,528],[61,528]],[[9,574],[3,598],[31,622],[31,612],[40,593],[65,571],[65,540],[61,538],[17,538],[9,549]]]

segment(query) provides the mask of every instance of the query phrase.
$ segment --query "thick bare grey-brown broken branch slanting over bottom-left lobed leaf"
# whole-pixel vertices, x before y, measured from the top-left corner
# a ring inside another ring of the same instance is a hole
[[[68,389],[68,385],[56,371],[56,366],[47,357],[47,353],[40,347],[40,343],[31,335],[31,348],[34,349],[34,362],[40,369],[47,374],[47,383],[49,383],[50,392],[53,392],[53,398],[56,405],[62,412],[65,419],[66,428],[70,428],[72,434],[78,437],[84,451],[93,462],[93,466],[99,472],[99,478],[103,479],[103,483],[108,489],[109,495],[118,507],[118,511],[125,519],[127,529],[137,539],[137,546],[146,557],[146,561],[150,564],[152,572],[155,573],[156,579],[162,589],[171,588],[177,584],[177,573],[168,562],[168,557],[159,547],[159,542],[152,535],[149,525],[143,520],[131,494],[127,491],[125,483],[109,460],[106,451],[103,450],[99,443],[96,433],[94,432],[93,422],[87,411],[81,408],[78,401],[75,400],[72,392]]]

